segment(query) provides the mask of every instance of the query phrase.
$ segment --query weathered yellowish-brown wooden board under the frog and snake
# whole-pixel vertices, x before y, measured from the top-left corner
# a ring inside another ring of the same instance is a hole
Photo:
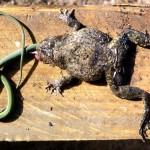
[[[32,31],[36,41],[40,42],[48,36],[72,31],[58,19],[59,8],[1,6],[0,10],[18,18]],[[139,31],[150,32],[148,7],[70,8],[76,9],[75,15],[83,24],[98,28],[112,37],[129,24]],[[21,35],[11,21],[2,16],[0,19],[0,57],[3,58],[18,49]],[[26,45],[31,43],[29,33],[26,32]],[[18,68],[19,63],[14,62],[4,69],[5,74],[15,83],[19,78]],[[16,92],[13,115],[6,122],[0,122],[0,140],[140,139],[138,129],[143,111],[142,101],[122,100],[113,95],[105,84],[85,82],[69,86],[63,93],[64,97],[45,92],[47,81],[65,74],[59,68],[36,63],[31,58],[26,60],[23,68],[25,84],[20,92]],[[131,84],[150,92],[150,51],[147,49],[137,47]],[[1,106],[4,105],[4,99],[6,95],[3,91]]]

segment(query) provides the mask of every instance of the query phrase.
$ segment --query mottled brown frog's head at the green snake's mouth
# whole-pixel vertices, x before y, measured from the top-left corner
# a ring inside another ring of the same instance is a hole
[[[64,41],[64,36],[50,37],[42,41],[33,54],[35,58],[45,64],[65,68],[64,57],[60,45]]]

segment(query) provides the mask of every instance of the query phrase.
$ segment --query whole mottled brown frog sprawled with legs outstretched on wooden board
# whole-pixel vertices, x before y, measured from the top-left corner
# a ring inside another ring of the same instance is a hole
[[[122,75],[130,43],[150,47],[150,36],[129,28],[112,39],[97,29],[85,28],[72,15],[73,10],[61,10],[59,18],[75,29],[73,33],[47,38],[37,48],[44,63],[66,69],[69,74],[48,83],[46,89],[61,92],[61,87],[73,78],[96,81],[105,74],[116,96],[143,100],[144,114],[139,133],[145,141],[150,125],[150,94],[140,88],[124,85]]]

